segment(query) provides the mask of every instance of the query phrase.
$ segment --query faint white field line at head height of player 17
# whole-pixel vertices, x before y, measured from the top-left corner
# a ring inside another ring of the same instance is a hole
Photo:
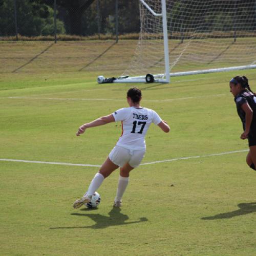
[[[176,100],[188,100],[188,99],[201,99],[201,98],[212,98],[212,97],[220,97],[227,96],[228,93],[225,94],[213,94],[207,96],[195,96],[195,97],[182,97],[182,98],[174,98],[174,99],[143,99],[143,101],[147,102],[169,102]],[[24,97],[24,96],[14,96],[14,97],[3,97],[2,99],[32,99],[32,100],[73,100],[73,101],[125,101],[125,99],[105,99],[105,98],[46,98],[46,97]]]

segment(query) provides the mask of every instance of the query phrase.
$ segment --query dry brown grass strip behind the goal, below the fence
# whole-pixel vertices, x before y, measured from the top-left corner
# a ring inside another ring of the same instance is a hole
[[[115,40],[58,41],[57,44],[47,40],[0,41],[0,73],[95,72],[119,76],[131,63],[137,45],[138,40],[131,39],[121,39],[118,44]],[[174,72],[245,65],[256,60],[255,45],[256,37],[239,38],[235,44],[230,38],[184,40],[183,44],[180,40],[169,40],[170,62],[181,55]],[[163,53],[162,45],[158,50]],[[154,61],[148,61],[151,66],[161,66],[163,56],[159,53]],[[136,70],[142,71],[142,66]]]

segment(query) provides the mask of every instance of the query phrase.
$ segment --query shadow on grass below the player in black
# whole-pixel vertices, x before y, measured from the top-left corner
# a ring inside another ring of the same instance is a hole
[[[234,210],[230,212],[224,212],[223,214],[217,214],[215,216],[203,217],[201,220],[218,220],[218,219],[230,219],[240,215],[251,214],[256,212],[256,202],[255,203],[241,203],[238,204],[239,210]]]

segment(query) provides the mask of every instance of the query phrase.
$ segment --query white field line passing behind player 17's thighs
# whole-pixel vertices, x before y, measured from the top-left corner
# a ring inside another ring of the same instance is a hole
[[[154,162],[142,163],[142,164],[140,164],[140,165],[148,165],[148,164],[156,164],[156,163],[173,162],[173,161],[178,161],[178,160],[187,160],[187,159],[202,158],[202,157],[223,156],[223,155],[229,155],[229,154],[235,154],[235,153],[242,153],[242,152],[248,152],[248,150],[229,151],[229,152],[216,153],[216,154],[203,155],[203,156],[180,157],[180,158],[173,158],[173,159],[167,159],[167,160],[161,160],[161,161],[154,161]],[[101,165],[98,165],[98,164],[43,162],[43,161],[29,161],[29,160],[17,160],[17,159],[5,159],[5,158],[0,158],[0,161],[6,161],[6,162],[23,162],[23,163],[41,163],[41,164],[58,164],[58,165],[86,166],[86,167],[100,167],[100,166],[101,166]]]

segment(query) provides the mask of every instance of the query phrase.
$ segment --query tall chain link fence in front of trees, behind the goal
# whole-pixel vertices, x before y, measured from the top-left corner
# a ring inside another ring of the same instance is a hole
[[[138,0],[0,0],[0,39],[9,36],[14,40],[22,37],[48,40],[56,35],[60,40],[78,39],[83,36],[105,39],[114,38],[118,33],[137,33],[138,38],[140,31],[138,3]],[[177,34],[176,37],[183,41],[184,33],[191,32],[184,30],[191,26],[189,21],[185,23],[183,20],[183,9],[189,5],[189,1],[174,0],[170,3],[172,3],[172,10],[169,12],[170,37],[173,38]],[[255,33],[256,1],[225,0],[220,1],[220,6],[223,11],[211,16],[202,13],[198,17],[197,23],[206,20],[204,24],[207,27],[202,28],[204,31],[219,31],[226,34],[233,32],[236,37],[236,31],[243,27],[244,31]],[[197,8],[201,8],[201,5],[199,4]],[[189,13],[191,19],[194,18],[196,11],[191,10]],[[254,26],[251,25],[252,19]],[[223,22],[220,23],[220,20]],[[180,24],[180,27],[176,24]],[[212,27],[212,24],[221,25]]]

